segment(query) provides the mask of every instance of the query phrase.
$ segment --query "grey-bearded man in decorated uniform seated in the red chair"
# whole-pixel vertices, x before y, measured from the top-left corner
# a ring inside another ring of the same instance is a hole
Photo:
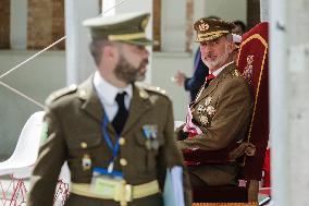
[[[252,99],[248,83],[238,74],[233,61],[233,27],[232,23],[213,19],[200,19],[194,25],[201,59],[210,72],[189,107],[186,124],[178,130],[178,148],[185,155],[193,154],[188,166],[194,186],[237,184],[235,159],[222,159],[220,150],[236,148],[234,145],[244,140]],[[203,159],[194,156],[197,150],[219,153],[209,163],[200,163]]]

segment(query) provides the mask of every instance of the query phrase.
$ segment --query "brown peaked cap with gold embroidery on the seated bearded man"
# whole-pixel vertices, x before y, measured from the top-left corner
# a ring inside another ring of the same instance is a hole
[[[195,41],[202,43],[218,39],[221,36],[231,34],[234,27],[233,23],[223,20],[202,17],[194,24],[194,29],[197,32]]]

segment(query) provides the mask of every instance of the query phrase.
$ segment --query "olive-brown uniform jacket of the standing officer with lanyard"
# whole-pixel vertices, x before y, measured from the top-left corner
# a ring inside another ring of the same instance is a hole
[[[112,152],[101,130],[104,110],[89,78],[78,87],[70,87],[51,95],[47,100],[45,122],[47,138],[41,146],[32,177],[28,206],[51,206],[57,180],[66,160],[74,183],[90,183],[92,168],[108,168]],[[137,185],[158,180],[162,187],[166,167],[183,166],[183,158],[174,138],[173,112],[170,99],[154,90],[133,85],[129,116],[121,134],[124,142],[115,160],[114,170],[122,171],[128,184]],[[143,126],[157,125],[159,148],[145,146]],[[108,132],[115,141],[110,123]],[[83,158],[91,159],[91,167],[83,167]],[[185,201],[191,202],[188,177],[184,174]],[[120,205],[113,201],[70,195],[66,206]],[[132,206],[162,205],[162,195],[151,195],[128,203]]]

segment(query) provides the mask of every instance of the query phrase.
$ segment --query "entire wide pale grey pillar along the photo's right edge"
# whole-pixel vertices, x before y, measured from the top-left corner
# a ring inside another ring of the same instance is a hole
[[[309,1],[273,0],[271,148],[276,206],[308,205]]]

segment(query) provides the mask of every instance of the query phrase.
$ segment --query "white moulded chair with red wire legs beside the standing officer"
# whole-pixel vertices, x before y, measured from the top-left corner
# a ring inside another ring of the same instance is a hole
[[[17,205],[20,195],[21,202],[25,202],[24,178],[30,175],[33,165],[38,156],[44,113],[44,111],[38,111],[30,116],[21,132],[13,155],[8,160],[0,162],[0,175],[11,177],[11,183],[7,189],[1,185],[3,205],[7,201],[10,205]],[[10,190],[12,190],[12,194],[8,197]]]

